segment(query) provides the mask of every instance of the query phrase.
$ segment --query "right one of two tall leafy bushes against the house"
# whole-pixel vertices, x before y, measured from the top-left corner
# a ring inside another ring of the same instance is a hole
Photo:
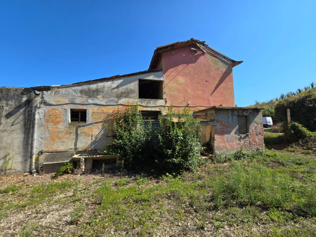
[[[177,116],[177,121],[174,118]],[[155,134],[159,141],[160,154],[157,156],[158,165],[173,175],[184,170],[194,169],[203,163],[199,151],[201,127],[193,118],[189,109],[176,113],[169,106],[165,115],[159,115],[159,127]]]

